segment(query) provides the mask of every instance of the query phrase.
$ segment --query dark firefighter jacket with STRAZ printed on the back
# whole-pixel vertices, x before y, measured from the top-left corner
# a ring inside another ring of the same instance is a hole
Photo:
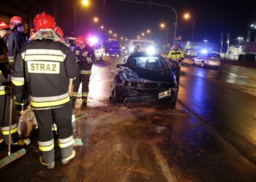
[[[15,60],[12,83],[19,102],[26,84],[35,110],[58,108],[69,102],[69,79],[78,74],[75,56],[60,41],[37,39],[22,47]]]

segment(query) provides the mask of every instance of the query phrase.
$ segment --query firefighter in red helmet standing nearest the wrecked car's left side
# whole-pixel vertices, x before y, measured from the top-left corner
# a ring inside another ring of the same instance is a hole
[[[94,60],[94,49],[86,44],[86,39],[83,36],[78,36],[75,41],[76,47],[74,50],[77,59],[79,74],[73,81],[74,90],[72,95],[72,106],[75,106],[75,100],[78,96],[78,89],[82,82],[82,106],[87,105],[87,98],[89,94],[89,82],[91,76],[92,61]]]

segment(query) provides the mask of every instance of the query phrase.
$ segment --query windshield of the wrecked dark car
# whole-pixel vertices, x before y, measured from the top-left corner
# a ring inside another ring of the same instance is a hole
[[[137,67],[149,69],[167,69],[165,60],[159,56],[144,56],[144,57],[130,57],[127,60],[127,65],[134,65]]]

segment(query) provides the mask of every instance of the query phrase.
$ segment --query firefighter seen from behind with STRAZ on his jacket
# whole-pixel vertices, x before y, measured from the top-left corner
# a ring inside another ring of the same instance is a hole
[[[37,33],[34,40],[22,47],[15,59],[12,83],[15,101],[23,100],[20,92],[28,87],[31,108],[38,124],[39,161],[53,168],[53,120],[58,127],[61,162],[67,164],[75,157],[72,136],[72,108],[69,99],[69,79],[78,74],[75,56],[59,41],[56,22],[45,12],[34,18]]]

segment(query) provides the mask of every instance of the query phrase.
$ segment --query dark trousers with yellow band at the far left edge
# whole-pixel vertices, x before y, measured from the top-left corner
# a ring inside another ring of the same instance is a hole
[[[10,95],[0,95],[0,127],[4,137],[4,142],[9,141],[9,115],[10,115]],[[11,124],[11,144],[18,142],[18,113],[15,103],[12,105],[12,124]]]

